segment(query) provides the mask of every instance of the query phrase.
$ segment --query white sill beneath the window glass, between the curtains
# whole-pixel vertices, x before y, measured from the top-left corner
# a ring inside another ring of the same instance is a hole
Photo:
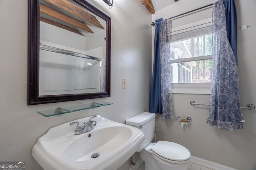
[[[173,94],[210,94],[211,83],[172,83]]]

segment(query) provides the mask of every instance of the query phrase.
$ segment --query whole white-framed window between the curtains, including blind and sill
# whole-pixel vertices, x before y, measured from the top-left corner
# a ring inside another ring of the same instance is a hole
[[[212,23],[171,30],[173,93],[209,94],[212,69]],[[199,24],[199,23],[198,23]]]

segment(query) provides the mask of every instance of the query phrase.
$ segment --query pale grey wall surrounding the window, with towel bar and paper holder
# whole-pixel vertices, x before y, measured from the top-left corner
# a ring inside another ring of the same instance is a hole
[[[208,5],[216,0],[182,0],[171,6],[158,10],[152,21],[158,18],[170,18],[183,12]],[[256,104],[256,1],[236,0],[238,12],[238,72],[240,75],[240,95],[242,106]],[[241,31],[241,25],[250,25]],[[154,28],[152,29],[154,43]],[[174,94],[174,111],[182,118],[192,117],[189,125],[182,128],[176,119],[162,120],[156,117],[158,140],[173,141],[184,145],[193,156],[230,166],[239,170],[256,169],[256,111],[242,110],[244,129],[223,131],[206,124],[209,107],[190,106],[194,100],[209,103],[209,95]]]

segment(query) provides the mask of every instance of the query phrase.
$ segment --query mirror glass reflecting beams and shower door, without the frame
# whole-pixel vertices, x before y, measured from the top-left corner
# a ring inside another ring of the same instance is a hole
[[[105,28],[72,0],[40,0],[39,96],[105,92]]]

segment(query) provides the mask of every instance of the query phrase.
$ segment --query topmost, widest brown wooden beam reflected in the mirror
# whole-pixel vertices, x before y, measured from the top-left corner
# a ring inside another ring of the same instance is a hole
[[[100,21],[97,20],[95,16],[92,14],[84,11],[83,9],[79,8],[78,6],[72,4],[71,2],[68,2],[67,0],[45,0],[46,2],[66,11],[70,14],[73,14],[74,16],[77,16],[79,18],[82,18],[85,21],[88,21],[102,29],[105,29]]]

